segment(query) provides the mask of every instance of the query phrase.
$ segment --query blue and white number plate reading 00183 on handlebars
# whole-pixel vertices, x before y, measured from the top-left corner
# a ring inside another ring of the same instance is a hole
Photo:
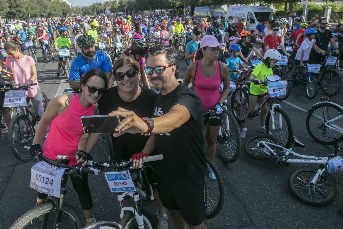
[[[128,170],[122,172],[106,172],[105,179],[111,192],[127,192],[136,190]]]

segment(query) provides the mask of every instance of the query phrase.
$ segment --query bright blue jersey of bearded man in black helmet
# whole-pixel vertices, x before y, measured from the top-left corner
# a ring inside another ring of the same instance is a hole
[[[82,77],[84,73],[93,68],[100,69],[105,73],[112,71],[112,66],[107,55],[103,52],[97,51],[92,62],[85,60],[83,55],[76,57],[70,66],[69,79],[79,81],[80,77]]]

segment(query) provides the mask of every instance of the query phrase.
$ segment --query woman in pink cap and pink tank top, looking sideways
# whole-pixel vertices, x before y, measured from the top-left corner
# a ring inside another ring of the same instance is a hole
[[[209,119],[209,115],[204,116],[204,142],[207,140],[207,153],[214,161],[216,151],[216,139],[223,118],[223,103],[230,92],[229,70],[223,62],[217,60],[220,47],[217,39],[212,35],[206,35],[200,42],[200,54],[203,59],[190,64],[187,68],[184,85],[187,87],[191,79],[194,78],[195,91],[201,99],[204,109],[215,110],[215,116],[219,118]],[[219,88],[224,83],[223,92],[220,94]],[[210,178],[215,179],[214,173],[210,171]]]

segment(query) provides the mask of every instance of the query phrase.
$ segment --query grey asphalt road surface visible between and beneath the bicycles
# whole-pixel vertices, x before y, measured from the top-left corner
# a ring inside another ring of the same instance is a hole
[[[56,54],[56,52],[54,52]],[[27,53],[25,53],[27,54]],[[56,79],[57,60],[44,63],[38,50],[38,82],[48,98],[51,99],[68,88],[63,76]],[[57,54],[56,54],[57,56]],[[180,79],[184,78],[187,66],[180,61]],[[61,80],[62,79],[62,80]],[[281,102],[291,117],[294,135],[305,144],[305,149],[296,148],[301,154],[327,156],[333,153],[332,146],[320,145],[312,140],[306,130],[306,110],[323,96],[321,91],[315,99],[309,100],[300,87],[293,88],[292,94]],[[343,98],[343,92],[335,96]],[[243,139],[239,159],[226,164],[219,157],[216,165],[220,169],[225,183],[226,196],[222,211],[213,219],[206,220],[208,228],[342,228],[343,216],[338,208],[343,207],[343,173],[330,174],[337,186],[337,194],[326,206],[311,206],[300,202],[293,196],[288,186],[289,176],[300,168],[318,169],[317,165],[290,164],[289,166],[272,164],[271,161],[257,161],[246,155],[243,146],[246,139],[258,135],[259,118],[250,122],[247,138]],[[240,125],[240,128],[242,126]],[[176,142],[177,144],[177,142]],[[0,228],[8,228],[17,218],[33,208],[36,203],[36,191],[29,187],[30,168],[34,162],[21,162],[14,158],[8,149],[7,129],[1,130],[0,164]],[[166,146],[168,147],[168,146]],[[98,144],[92,151],[93,158],[105,161],[102,146]],[[71,183],[69,186],[71,187]],[[104,176],[90,175],[90,188],[93,195],[93,210],[97,220],[119,221],[119,209],[116,195],[110,193]],[[79,209],[78,197],[73,189],[68,191],[66,202]],[[156,219],[156,206],[145,202],[144,209]],[[175,228],[169,216],[169,227]]]

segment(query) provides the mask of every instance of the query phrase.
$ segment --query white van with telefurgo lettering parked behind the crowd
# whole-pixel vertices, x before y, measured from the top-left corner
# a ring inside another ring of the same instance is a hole
[[[237,21],[238,18],[245,18],[247,22],[247,31],[255,30],[258,21],[264,20],[276,20],[277,17],[270,7],[263,5],[258,6],[240,6],[231,5],[227,9],[226,18],[233,16],[233,19]]]

